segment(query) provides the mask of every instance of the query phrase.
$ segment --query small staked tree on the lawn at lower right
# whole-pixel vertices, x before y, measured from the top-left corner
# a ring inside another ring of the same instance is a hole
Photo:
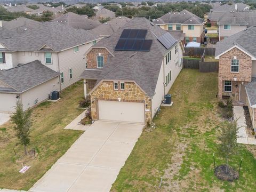
[[[218,146],[219,154],[226,159],[226,173],[228,172],[228,162],[231,156],[236,154],[237,149],[237,122],[224,122],[221,128],[221,134],[218,137],[220,145]]]

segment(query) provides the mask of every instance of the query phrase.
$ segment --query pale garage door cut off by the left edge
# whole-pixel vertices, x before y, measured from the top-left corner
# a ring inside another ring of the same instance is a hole
[[[16,95],[0,93],[0,111],[14,112],[16,106]]]

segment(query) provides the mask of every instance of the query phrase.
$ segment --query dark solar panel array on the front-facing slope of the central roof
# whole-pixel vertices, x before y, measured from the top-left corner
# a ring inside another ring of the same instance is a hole
[[[145,39],[147,29],[124,29],[115,51],[150,51],[152,40]]]

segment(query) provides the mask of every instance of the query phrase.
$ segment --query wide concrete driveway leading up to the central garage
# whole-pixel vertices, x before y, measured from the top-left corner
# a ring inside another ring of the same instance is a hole
[[[109,191],[142,128],[94,122],[29,191]]]

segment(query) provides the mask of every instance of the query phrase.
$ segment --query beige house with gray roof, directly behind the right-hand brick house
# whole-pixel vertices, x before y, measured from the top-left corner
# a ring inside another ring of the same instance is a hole
[[[234,35],[248,27],[256,25],[256,10],[226,12],[218,20],[219,39]]]

